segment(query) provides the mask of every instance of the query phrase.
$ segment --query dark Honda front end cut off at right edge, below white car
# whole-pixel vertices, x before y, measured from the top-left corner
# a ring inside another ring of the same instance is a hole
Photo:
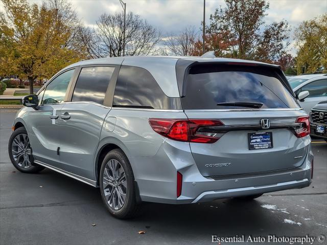
[[[327,141],[327,101],[320,102],[311,109],[311,135]]]

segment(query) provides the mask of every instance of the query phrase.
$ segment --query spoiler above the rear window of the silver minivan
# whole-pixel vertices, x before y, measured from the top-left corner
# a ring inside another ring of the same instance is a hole
[[[266,63],[252,63],[252,62],[238,62],[236,61],[209,61],[209,62],[199,62],[189,59],[179,59],[176,63],[176,77],[177,77],[177,84],[179,89],[179,94],[181,97],[184,97],[186,94],[186,77],[189,74],[189,71],[192,66],[199,65],[199,64],[225,64],[225,65],[243,65],[243,66],[256,66],[256,67],[270,67],[274,68],[277,72],[277,76],[279,80],[281,80],[284,87],[290,92],[290,94],[296,98],[296,95],[290,86],[287,78],[284,75],[281,66],[279,65],[272,65]]]

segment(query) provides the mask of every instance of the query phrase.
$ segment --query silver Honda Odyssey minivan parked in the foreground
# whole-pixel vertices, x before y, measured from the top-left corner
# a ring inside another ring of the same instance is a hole
[[[59,71],[13,122],[9,155],[100,187],[115,217],[309,186],[309,117],[279,66],[117,57]],[[33,176],[31,176],[33,178]]]

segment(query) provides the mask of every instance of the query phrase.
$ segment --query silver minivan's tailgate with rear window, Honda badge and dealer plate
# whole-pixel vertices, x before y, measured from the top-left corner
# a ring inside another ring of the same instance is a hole
[[[185,114],[191,121],[213,120],[215,125],[200,127],[196,134],[218,139],[190,142],[203,176],[274,171],[303,163],[310,137],[295,135],[301,125],[295,121],[306,114],[275,69],[224,64],[190,69],[181,99]]]

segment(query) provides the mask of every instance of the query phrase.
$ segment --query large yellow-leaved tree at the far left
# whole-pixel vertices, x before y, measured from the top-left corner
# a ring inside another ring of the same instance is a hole
[[[40,7],[29,5],[27,0],[2,2],[5,9],[5,13],[0,13],[2,75],[27,78],[33,93],[36,78],[51,77],[82,58],[80,47],[75,47],[73,40],[75,23],[69,21],[71,16],[64,17],[64,13],[72,12],[65,1],[53,0]]]

